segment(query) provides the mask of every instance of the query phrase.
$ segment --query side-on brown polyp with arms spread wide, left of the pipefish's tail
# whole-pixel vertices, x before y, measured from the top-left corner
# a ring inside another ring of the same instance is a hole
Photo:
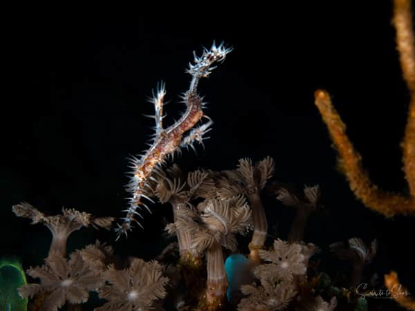
[[[45,216],[27,202],[14,205],[12,211],[19,217],[32,219],[32,224],[43,223],[48,227],[52,232],[49,255],[58,252],[66,256],[66,241],[72,232],[90,225],[95,228],[109,229],[114,219],[113,217],[95,217],[75,209],[62,209],[62,215]]]

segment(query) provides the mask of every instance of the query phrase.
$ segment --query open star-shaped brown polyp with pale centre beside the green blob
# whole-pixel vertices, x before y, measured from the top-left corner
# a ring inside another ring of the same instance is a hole
[[[40,283],[24,285],[19,288],[19,294],[24,298],[44,294],[42,310],[45,311],[57,310],[66,301],[72,305],[84,303],[89,298],[89,290],[104,283],[100,274],[84,264],[79,252],[71,254],[68,261],[62,254],[50,254],[45,265],[30,268],[27,273],[40,279]]]

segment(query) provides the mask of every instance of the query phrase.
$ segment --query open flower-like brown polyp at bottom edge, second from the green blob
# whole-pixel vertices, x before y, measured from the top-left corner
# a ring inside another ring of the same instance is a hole
[[[165,297],[169,281],[163,276],[163,265],[156,261],[147,263],[139,258],[134,258],[124,270],[109,265],[104,277],[110,285],[104,285],[99,293],[100,298],[108,302],[95,308],[97,311],[154,309],[156,301]]]

